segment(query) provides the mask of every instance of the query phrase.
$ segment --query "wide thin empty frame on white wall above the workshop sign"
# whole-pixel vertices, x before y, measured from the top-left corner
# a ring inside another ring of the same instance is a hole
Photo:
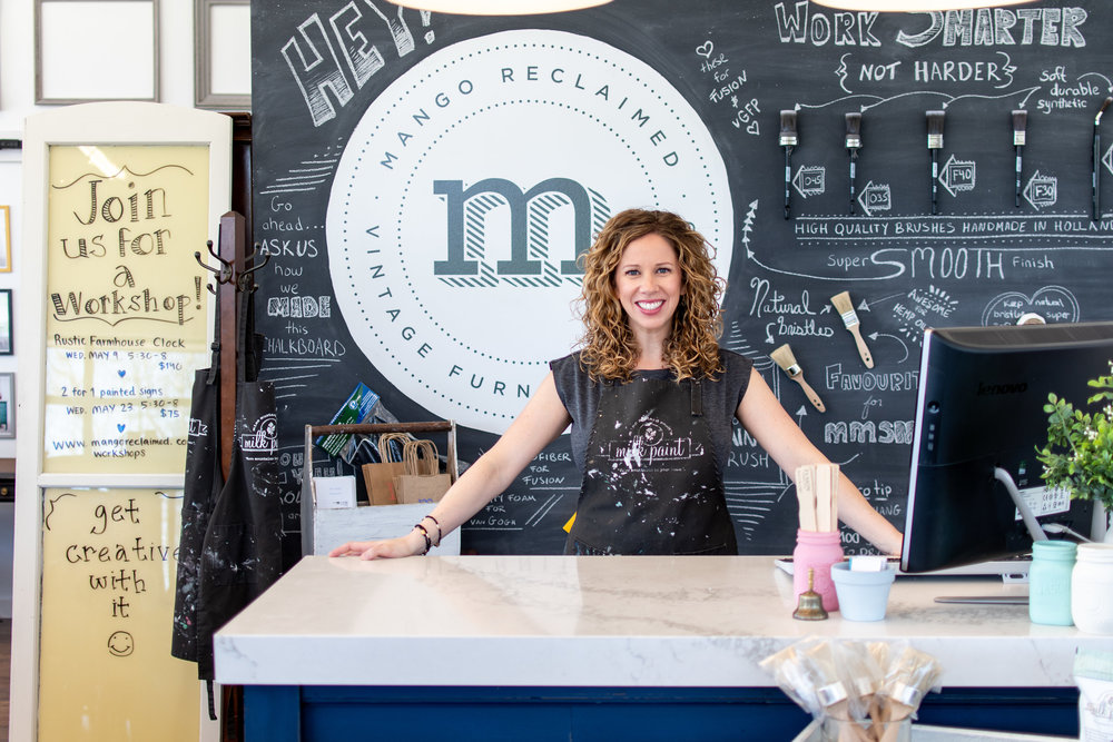
[[[35,102],[93,100],[158,100],[158,0],[35,0]]]

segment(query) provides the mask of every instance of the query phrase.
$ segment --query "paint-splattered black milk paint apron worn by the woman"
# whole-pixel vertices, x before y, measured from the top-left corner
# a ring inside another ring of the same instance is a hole
[[[700,382],[603,386],[564,553],[738,553]]]

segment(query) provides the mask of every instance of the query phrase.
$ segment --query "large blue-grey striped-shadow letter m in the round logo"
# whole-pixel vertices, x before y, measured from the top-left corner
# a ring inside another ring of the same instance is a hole
[[[447,210],[447,259],[435,260],[433,274],[453,286],[579,284],[583,271],[577,259],[610,217],[600,194],[570,178],[549,178],[529,190],[504,178],[466,189],[462,180],[434,180],[433,192],[444,196]],[[489,217],[504,209],[510,234],[492,234]],[[552,244],[554,218],[570,219],[571,245]],[[491,254],[509,259],[492,263]],[[558,263],[554,255],[568,258]]]

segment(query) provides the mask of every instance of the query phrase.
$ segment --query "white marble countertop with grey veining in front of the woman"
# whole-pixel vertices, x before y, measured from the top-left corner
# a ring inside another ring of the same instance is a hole
[[[799,639],[908,640],[945,686],[1072,686],[1078,646],[1113,637],[1028,621],[996,578],[902,577],[885,621],[791,617],[791,577],[762,556],[307,556],[221,629],[237,685],[772,685],[758,662]]]

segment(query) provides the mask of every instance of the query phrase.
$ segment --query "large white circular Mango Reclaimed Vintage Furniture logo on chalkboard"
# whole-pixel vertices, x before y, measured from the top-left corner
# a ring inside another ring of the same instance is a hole
[[[689,219],[728,274],[726,167],[668,80],[573,33],[469,39],[352,132],[326,217],[336,303],[398,392],[502,433],[580,336],[577,257],[630,207]]]

